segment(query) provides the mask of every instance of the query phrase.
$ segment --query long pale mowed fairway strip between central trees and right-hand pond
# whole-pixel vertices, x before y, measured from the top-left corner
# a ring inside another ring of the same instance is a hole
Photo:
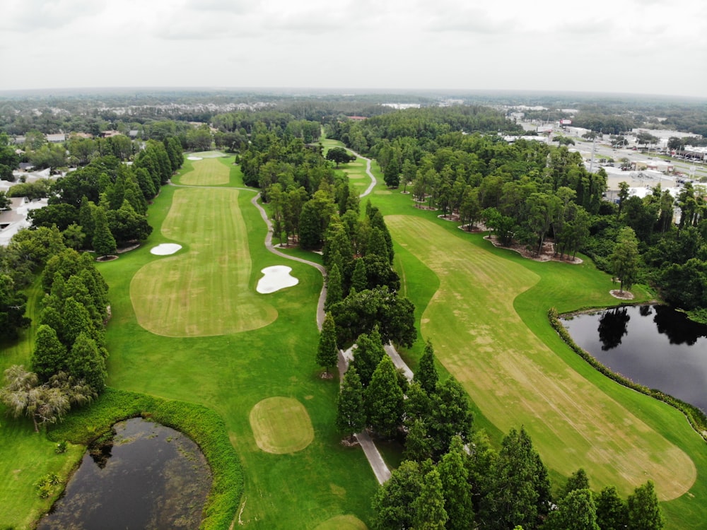
[[[568,476],[584,467],[596,489],[624,495],[651,478],[663,500],[689,490],[689,457],[539,341],[513,300],[539,277],[466,244],[416,216],[387,216],[392,237],[428,266],[440,288],[422,314],[445,368],[498,428],[525,428],[546,464]]]

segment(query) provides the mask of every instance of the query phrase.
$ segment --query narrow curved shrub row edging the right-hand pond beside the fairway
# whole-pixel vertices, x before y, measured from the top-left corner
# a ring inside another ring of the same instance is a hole
[[[562,322],[560,322],[559,314],[557,314],[557,310],[554,307],[551,307],[548,310],[547,317],[550,321],[551,326],[555,329],[555,331],[557,331],[557,334],[567,344],[567,346],[572,348],[575,353],[577,353],[581,358],[587,361],[587,363],[592,365],[592,367],[601,372],[603,375],[609,377],[609,379],[613,379],[615,382],[624,385],[624,387],[628,387],[630,389],[641,392],[641,394],[645,394],[646,396],[651,396],[655,399],[659,399],[660,401],[663,401],[668,405],[677,408],[677,410],[681,411],[686,416],[690,425],[692,425],[692,428],[694,428],[694,430],[696,430],[699,435],[703,437],[703,439],[707,440],[707,416],[705,416],[705,414],[699,408],[689,403],[685,403],[684,401],[681,401],[680,399],[677,399],[673,396],[670,396],[670,394],[665,394],[665,392],[662,392],[658,389],[650,389],[648,387],[644,387],[642,384],[633,382],[631,381],[631,379],[628,379],[627,377],[624,377],[621,374],[612,372],[612,370],[609,370],[608,367],[604,366],[602,363],[592,357],[590,353],[583,350],[583,348],[580,348],[577,343],[575,343],[573,338],[570,336],[569,331],[567,331],[565,326],[562,325]]]

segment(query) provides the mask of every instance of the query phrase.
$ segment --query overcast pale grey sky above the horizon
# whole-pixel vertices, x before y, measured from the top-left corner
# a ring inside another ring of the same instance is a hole
[[[4,0],[0,90],[574,90],[707,97],[699,0]]]

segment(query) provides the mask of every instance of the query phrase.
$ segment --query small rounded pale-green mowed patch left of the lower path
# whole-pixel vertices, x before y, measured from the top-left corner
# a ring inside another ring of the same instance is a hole
[[[250,411],[255,443],[265,452],[288,454],[301,451],[314,440],[307,409],[294,398],[271,397]]]

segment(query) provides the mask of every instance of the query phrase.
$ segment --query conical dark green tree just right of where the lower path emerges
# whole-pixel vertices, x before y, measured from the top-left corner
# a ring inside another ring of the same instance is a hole
[[[364,396],[368,425],[383,437],[394,436],[402,422],[403,393],[387,355],[378,363]]]

